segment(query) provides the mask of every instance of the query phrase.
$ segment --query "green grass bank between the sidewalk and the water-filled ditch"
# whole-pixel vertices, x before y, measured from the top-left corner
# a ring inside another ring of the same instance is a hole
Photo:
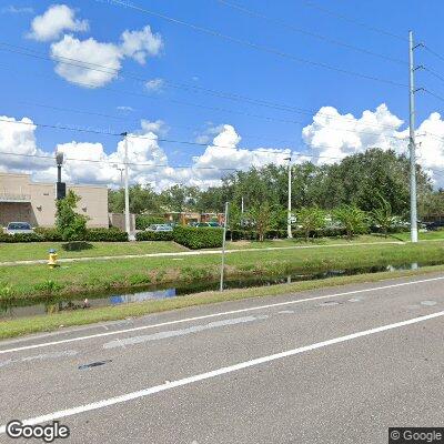
[[[82,294],[149,283],[202,282],[218,279],[220,260],[220,255],[203,254],[72,262],[54,270],[46,264],[0,266],[0,299]],[[225,264],[226,276],[234,278],[412,262],[444,263],[444,241],[274,251],[259,249],[228,254]]]

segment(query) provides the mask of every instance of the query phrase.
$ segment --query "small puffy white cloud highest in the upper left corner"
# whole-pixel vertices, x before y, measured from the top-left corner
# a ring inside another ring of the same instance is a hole
[[[88,31],[87,20],[75,19],[75,11],[67,4],[52,4],[31,22],[28,37],[39,41],[57,40],[64,31]]]

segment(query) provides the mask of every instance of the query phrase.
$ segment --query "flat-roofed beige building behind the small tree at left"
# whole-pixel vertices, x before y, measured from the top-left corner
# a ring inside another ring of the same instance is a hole
[[[81,200],[78,212],[89,218],[89,228],[108,228],[108,188],[70,185]],[[29,174],[0,173],[0,226],[29,222],[32,226],[56,223],[56,183],[31,182]]]

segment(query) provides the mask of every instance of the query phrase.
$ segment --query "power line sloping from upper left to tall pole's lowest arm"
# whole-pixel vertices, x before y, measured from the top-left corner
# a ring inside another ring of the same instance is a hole
[[[102,3],[102,1],[100,1],[100,0],[95,0],[95,1],[99,2],[99,3]],[[123,7],[123,8],[133,9],[133,10],[139,11],[139,12],[144,12],[147,14],[150,14],[150,16],[153,16],[153,17],[158,17],[160,19],[170,21],[172,23],[181,24],[183,27],[191,28],[191,29],[193,29],[195,31],[200,31],[200,32],[203,32],[203,33],[212,36],[212,37],[218,37],[218,38],[221,38],[223,40],[228,40],[228,41],[231,41],[233,43],[238,43],[238,44],[241,44],[241,46],[244,46],[244,47],[249,47],[249,48],[252,48],[252,49],[258,50],[258,51],[263,51],[263,52],[268,52],[268,53],[271,53],[271,54],[284,58],[284,59],[293,60],[293,61],[299,62],[299,63],[305,63],[305,64],[310,64],[310,65],[313,65],[313,67],[316,67],[316,68],[323,68],[323,69],[327,69],[327,70],[331,70],[331,71],[336,71],[336,72],[341,72],[341,73],[344,73],[344,74],[354,75],[354,77],[357,77],[357,78],[361,78],[361,79],[379,81],[379,82],[382,82],[382,83],[387,83],[387,84],[392,84],[392,85],[396,85],[396,87],[402,87],[402,88],[407,87],[404,83],[398,83],[398,82],[395,82],[395,81],[392,81],[392,80],[389,80],[389,79],[381,79],[381,78],[375,77],[375,75],[370,75],[370,74],[365,74],[365,73],[362,73],[362,72],[350,71],[350,70],[346,70],[344,68],[334,67],[334,65],[331,65],[331,64],[327,64],[327,63],[317,62],[317,61],[314,61],[314,60],[303,59],[303,58],[300,58],[300,57],[296,57],[296,56],[292,56],[292,54],[289,54],[286,52],[280,51],[280,50],[274,49],[274,48],[264,47],[262,44],[253,43],[253,42],[248,41],[248,40],[238,39],[235,37],[228,36],[228,34],[214,31],[214,30],[209,29],[209,28],[203,28],[203,27],[200,27],[200,26],[196,26],[196,24],[193,24],[193,23],[189,23],[189,22],[183,21],[183,20],[174,19],[174,18],[165,16],[163,13],[154,12],[154,11],[141,8],[141,7],[137,7],[134,4],[130,4],[130,3],[127,3],[124,1],[109,0],[109,2],[113,3],[115,6]]]

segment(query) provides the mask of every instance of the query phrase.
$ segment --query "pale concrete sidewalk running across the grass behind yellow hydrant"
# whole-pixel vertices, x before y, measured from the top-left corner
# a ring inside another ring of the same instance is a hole
[[[266,246],[263,249],[235,249],[225,250],[225,253],[242,253],[252,251],[274,251],[274,250],[306,250],[306,249],[326,249],[326,248],[337,248],[337,246],[362,246],[362,245],[403,245],[405,242],[402,241],[389,241],[389,242],[356,242],[356,243],[332,243],[330,245],[295,245],[295,246]],[[183,251],[178,253],[147,253],[147,254],[122,254],[118,256],[85,256],[85,258],[62,258],[59,259],[59,263],[65,262],[84,262],[84,261],[109,261],[114,259],[137,259],[137,258],[171,258],[171,256],[196,256],[196,255],[208,255],[208,254],[221,254],[221,250],[200,250],[200,251]],[[36,265],[46,264],[47,259],[38,259],[30,261],[8,261],[0,262],[0,266],[12,266],[12,265]]]

